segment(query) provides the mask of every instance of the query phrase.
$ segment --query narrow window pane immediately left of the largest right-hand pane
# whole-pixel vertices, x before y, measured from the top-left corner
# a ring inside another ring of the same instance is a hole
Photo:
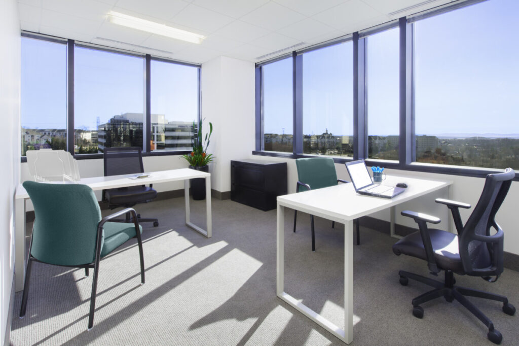
[[[368,157],[398,160],[399,30],[366,37]]]

